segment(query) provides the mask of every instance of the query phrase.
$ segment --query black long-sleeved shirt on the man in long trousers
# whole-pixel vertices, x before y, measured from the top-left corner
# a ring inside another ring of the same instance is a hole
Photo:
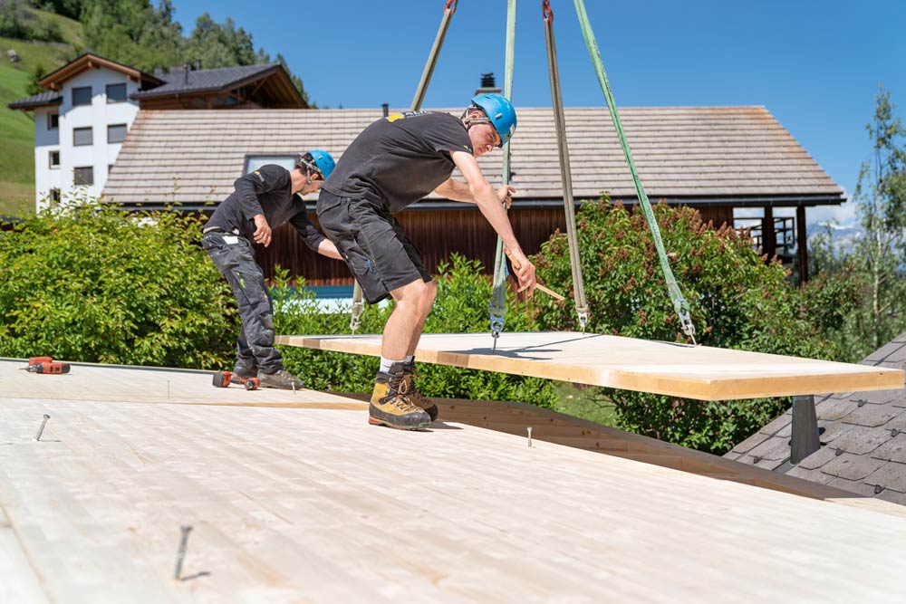
[[[219,226],[251,240],[255,233],[255,215],[264,214],[272,229],[287,222],[295,227],[310,249],[317,251],[324,235],[318,233],[305,210],[305,202],[293,193],[293,180],[289,170],[268,164],[239,177],[234,183],[236,191],[226,197],[205,228]]]

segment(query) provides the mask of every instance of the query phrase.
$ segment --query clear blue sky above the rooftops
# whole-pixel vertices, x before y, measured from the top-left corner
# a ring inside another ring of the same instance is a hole
[[[199,14],[229,16],[255,46],[283,53],[313,101],[408,107],[444,0],[207,3],[174,0],[188,34]],[[541,0],[520,0],[516,107],[549,106]],[[602,106],[572,0],[552,0],[564,103]],[[864,126],[879,82],[906,120],[906,2],[585,0],[620,106],[764,105],[852,193],[871,156]],[[502,84],[506,0],[460,0],[426,107],[462,105],[482,72]],[[518,135],[517,135],[518,136]],[[847,204],[846,206],[852,206]],[[852,208],[834,215],[846,223]],[[830,216],[810,211],[809,222]]]

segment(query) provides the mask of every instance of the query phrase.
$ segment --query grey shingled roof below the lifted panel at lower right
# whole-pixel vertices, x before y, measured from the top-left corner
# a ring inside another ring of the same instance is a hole
[[[906,333],[862,360],[906,369]],[[815,397],[821,448],[789,464],[792,410],[728,453],[730,459],[906,504],[906,390]]]

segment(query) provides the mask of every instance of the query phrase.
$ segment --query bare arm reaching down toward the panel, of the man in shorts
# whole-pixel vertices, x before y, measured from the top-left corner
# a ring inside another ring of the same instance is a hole
[[[504,246],[513,256],[513,259],[516,260],[513,268],[516,271],[516,278],[519,280],[519,291],[527,289],[529,295],[531,295],[535,292],[535,265],[525,256],[522,247],[516,241],[513,227],[510,225],[509,218],[506,217],[503,206],[500,205],[501,199],[497,196],[494,187],[491,187],[490,183],[487,182],[487,178],[481,173],[481,168],[478,168],[478,162],[471,153],[452,151],[450,156],[453,158],[453,163],[462,172],[462,176],[466,178],[469,196],[471,197],[469,201],[474,201],[477,204],[481,214],[494,227],[496,234],[500,235]],[[451,181],[456,182],[452,178],[447,182]],[[439,188],[442,189],[445,185],[447,183],[444,183]],[[440,195],[443,194],[440,193]],[[519,265],[518,269],[516,264]]]

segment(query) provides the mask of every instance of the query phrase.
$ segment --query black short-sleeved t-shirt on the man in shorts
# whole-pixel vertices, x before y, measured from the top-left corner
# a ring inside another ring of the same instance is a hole
[[[399,212],[450,177],[456,168],[450,151],[473,152],[462,120],[430,111],[393,113],[361,131],[322,187]]]

